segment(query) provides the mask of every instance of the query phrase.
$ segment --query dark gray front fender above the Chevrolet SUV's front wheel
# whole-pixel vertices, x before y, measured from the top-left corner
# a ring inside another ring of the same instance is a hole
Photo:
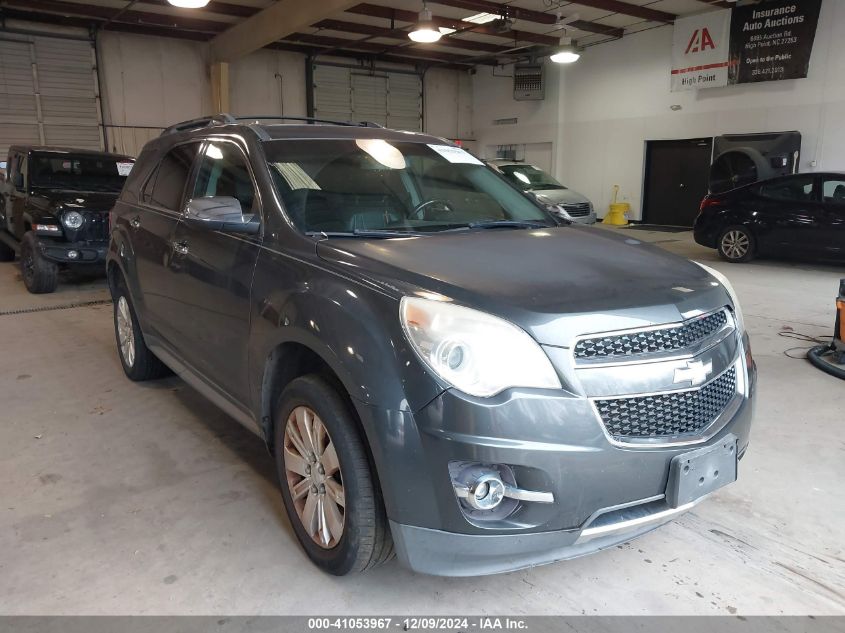
[[[253,402],[267,360],[284,343],[320,356],[360,402],[414,411],[444,386],[409,347],[395,297],[328,269],[263,249],[253,280],[250,384]]]

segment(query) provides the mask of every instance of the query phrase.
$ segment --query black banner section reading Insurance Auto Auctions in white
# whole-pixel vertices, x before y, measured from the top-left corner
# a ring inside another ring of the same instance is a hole
[[[776,0],[733,9],[728,82],[807,76],[822,0]]]

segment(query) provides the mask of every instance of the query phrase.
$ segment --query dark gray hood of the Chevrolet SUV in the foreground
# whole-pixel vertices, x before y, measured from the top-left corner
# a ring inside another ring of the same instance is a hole
[[[581,226],[329,239],[317,253],[393,296],[438,293],[561,347],[579,335],[673,323],[730,304],[693,262]]]

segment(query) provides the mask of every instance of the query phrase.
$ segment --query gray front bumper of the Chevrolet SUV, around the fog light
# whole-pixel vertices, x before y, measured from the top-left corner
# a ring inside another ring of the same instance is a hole
[[[414,414],[361,405],[399,560],[418,572],[469,576],[595,552],[648,532],[678,508],[665,494],[672,459],[736,436],[748,445],[756,371],[730,420],[695,445],[611,443],[590,402],[560,391],[512,390],[489,399],[447,391]],[[454,462],[507,465],[520,488],[554,503],[522,503],[503,520],[467,518]]]

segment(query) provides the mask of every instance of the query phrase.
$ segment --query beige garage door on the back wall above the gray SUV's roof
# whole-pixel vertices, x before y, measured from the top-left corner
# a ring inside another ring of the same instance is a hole
[[[314,116],[422,130],[419,75],[314,65]]]

